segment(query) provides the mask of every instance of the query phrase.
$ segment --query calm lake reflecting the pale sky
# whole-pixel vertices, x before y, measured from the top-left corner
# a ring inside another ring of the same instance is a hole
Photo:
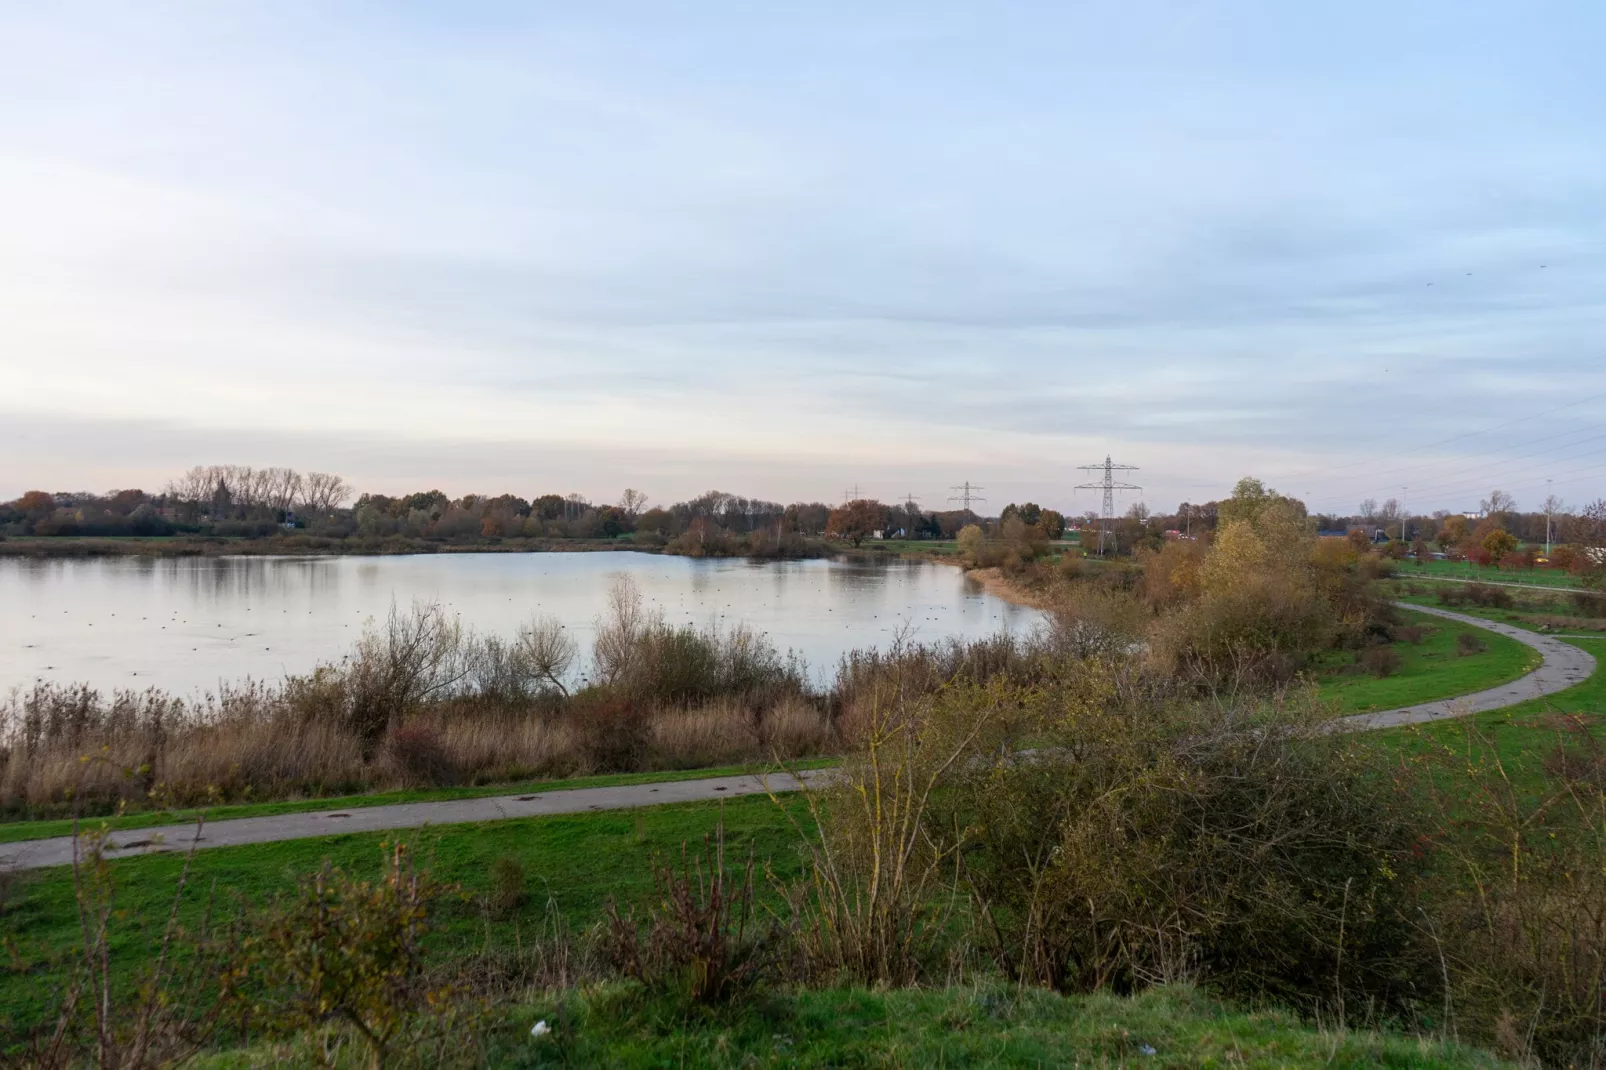
[[[914,561],[694,561],[639,553],[389,557],[0,559],[0,696],[37,680],[162,688],[278,680],[337,660],[392,604],[432,601],[479,631],[562,620],[589,652],[615,577],[671,623],[747,623],[817,680],[850,649],[1031,628],[1041,615],[959,569]]]

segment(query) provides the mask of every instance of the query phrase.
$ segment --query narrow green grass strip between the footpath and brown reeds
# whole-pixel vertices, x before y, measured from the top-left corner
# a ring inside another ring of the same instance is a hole
[[[790,762],[787,768],[817,770],[835,765],[837,758],[806,758]],[[713,770],[658,770],[654,773],[609,773],[602,776],[577,776],[562,781],[519,781],[512,784],[479,784],[475,787],[418,787],[366,795],[320,795],[316,798],[291,798],[262,803],[230,803],[222,807],[153,808],[111,816],[85,816],[85,826],[112,831],[149,829],[159,824],[191,824],[206,813],[207,821],[233,818],[268,818],[281,813],[307,813],[315,810],[352,810],[357,807],[385,807],[390,803],[442,802],[448,798],[485,798],[488,795],[520,795],[525,792],[557,792],[575,787],[617,787],[620,784],[662,784],[663,781],[694,781],[710,776],[737,776],[740,773],[774,773],[776,766],[763,762],[726,765]],[[8,821],[0,824],[0,843],[21,840],[47,840],[53,835],[72,835],[72,818]]]

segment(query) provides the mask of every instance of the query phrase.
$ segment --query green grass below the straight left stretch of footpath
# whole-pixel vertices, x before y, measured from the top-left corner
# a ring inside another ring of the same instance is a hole
[[[803,818],[801,797],[785,795],[781,807]],[[381,843],[402,840],[437,879],[466,893],[442,908],[430,935],[434,951],[454,958],[482,946],[512,946],[520,930],[540,925],[548,896],[575,927],[593,924],[609,896],[622,903],[641,900],[652,887],[654,858],[679,858],[683,842],[700,843],[721,818],[732,858],[745,860],[752,850],[760,866],[769,866],[777,877],[795,877],[801,872],[803,847],[781,807],[763,795],[750,795],[724,803],[220,847],[196,852],[180,916],[193,925],[209,895],[217,896],[223,914],[243,905],[262,905],[292,888],[297,876],[315,871],[324,858],[350,872],[377,874]],[[516,916],[490,919],[479,898],[490,887],[491,863],[503,856],[524,866],[528,901]],[[122,917],[112,956],[125,980],[128,969],[151,956],[183,864],[183,855],[167,853],[124,858],[111,866]],[[16,1035],[50,1015],[59,998],[64,964],[79,940],[69,868],[19,874],[11,880],[0,906],[0,930],[10,954],[0,974],[0,1036]]]

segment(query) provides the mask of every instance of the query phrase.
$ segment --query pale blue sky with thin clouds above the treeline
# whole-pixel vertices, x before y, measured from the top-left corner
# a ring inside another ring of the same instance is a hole
[[[1593,0],[0,0],[0,498],[1606,496],[1601,56]]]

